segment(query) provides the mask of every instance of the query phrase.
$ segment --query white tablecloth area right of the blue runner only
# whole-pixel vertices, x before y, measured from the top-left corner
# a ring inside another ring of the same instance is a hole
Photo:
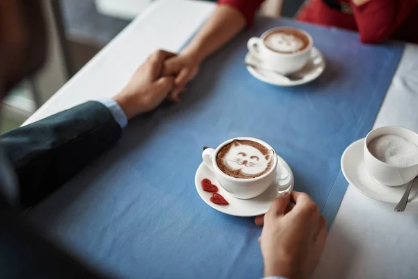
[[[418,131],[417,108],[418,46],[408,44],[373,128]],[[418,278],[417,238],[418,204],[395,212],[348,186],[314,278]]]

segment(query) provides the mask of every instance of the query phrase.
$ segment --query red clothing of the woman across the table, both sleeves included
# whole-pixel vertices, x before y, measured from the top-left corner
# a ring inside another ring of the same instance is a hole
[[[263,0],[219,0],[218,3],[237,8],[251,24]],[[370,0],[362,6],[352,3],[351,7],[354,15],[334,10],[321,0],[311,0],[296,18],[302,22],[359,31],[363,43],[380,43],[389,37],[418,43],[417,0]]]

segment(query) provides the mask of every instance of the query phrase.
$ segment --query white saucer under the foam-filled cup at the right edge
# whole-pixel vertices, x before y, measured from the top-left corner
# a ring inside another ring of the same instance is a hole
[[[364,165],[363,148],[364,138],[350,144],[341,157],[341,169],[347,181],[367,197],[397,204],[405,193],[406,185],[392,187],[376,182]],[[409,202],[418,202],[417,185],[412,187]]]

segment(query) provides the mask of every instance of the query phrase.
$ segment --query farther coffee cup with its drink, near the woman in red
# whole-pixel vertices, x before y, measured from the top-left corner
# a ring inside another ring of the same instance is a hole
[[[307,32],[293,27],[269,29],[247,43],[249,52],[261,61],[262,68],[283,74],[297,72],[307,65],[313,45]]]

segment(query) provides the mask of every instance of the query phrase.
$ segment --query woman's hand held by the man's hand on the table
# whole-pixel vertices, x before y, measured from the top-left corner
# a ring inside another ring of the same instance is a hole
[[[199,71],[200,60],[192,54],[178,54],[167,59],[164,63],[163,76],[174,76],[173,90],[169,93],[169,99],[178,102],[180,93],[185,91],[187,82],[193,80]]]

